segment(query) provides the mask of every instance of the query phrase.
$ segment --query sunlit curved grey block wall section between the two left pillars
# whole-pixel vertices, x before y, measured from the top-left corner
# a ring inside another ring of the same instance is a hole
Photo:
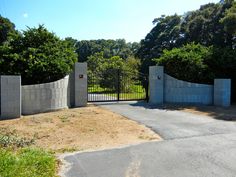
[[[35,114],[67,108],[69,76],[45,84],[22,86],[22,114]]]

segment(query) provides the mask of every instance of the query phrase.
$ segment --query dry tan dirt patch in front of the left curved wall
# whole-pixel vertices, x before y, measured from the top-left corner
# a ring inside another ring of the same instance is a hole
[[[161,139],[149,128],[94,105],[3,120],[0,133],[33,139],[33,146],[56,152],[98,150]]]

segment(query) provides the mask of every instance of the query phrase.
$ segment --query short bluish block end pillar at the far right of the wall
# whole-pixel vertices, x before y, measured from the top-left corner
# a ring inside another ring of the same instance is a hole
[[[230,106],[231,98],[231,79],[214,80],[214,105]]]

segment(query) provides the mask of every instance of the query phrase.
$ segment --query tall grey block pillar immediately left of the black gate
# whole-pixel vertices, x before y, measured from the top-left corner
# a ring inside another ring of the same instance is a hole
[[[75,63],[75,107],[87,105],[87,63]]]

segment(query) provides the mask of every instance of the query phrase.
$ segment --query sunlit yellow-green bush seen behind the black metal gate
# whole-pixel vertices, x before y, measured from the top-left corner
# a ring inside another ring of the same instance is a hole
[[[113,56],[111,58],[105,58],[104,53],[95,53],[88,57],[88,73],[90,76],[94,76],[95,82],[99,87],[108,89],[111,91],[117,91],[117,80],[125,83],[125,80],[129,80],[129,84],[132,85],[133,81],[137,79],[139,60],[129,57],[126,60],[119,56]],[[124,76],[124,77],[121,77]],[[90,80],[89,80],[90,81]],[[91,83],[89,83],[91,84]],[[125,84],[122,84],[125,85]],[[126,83],[126,87],[120,88],[121,91],[128,92],[129,85]]]

